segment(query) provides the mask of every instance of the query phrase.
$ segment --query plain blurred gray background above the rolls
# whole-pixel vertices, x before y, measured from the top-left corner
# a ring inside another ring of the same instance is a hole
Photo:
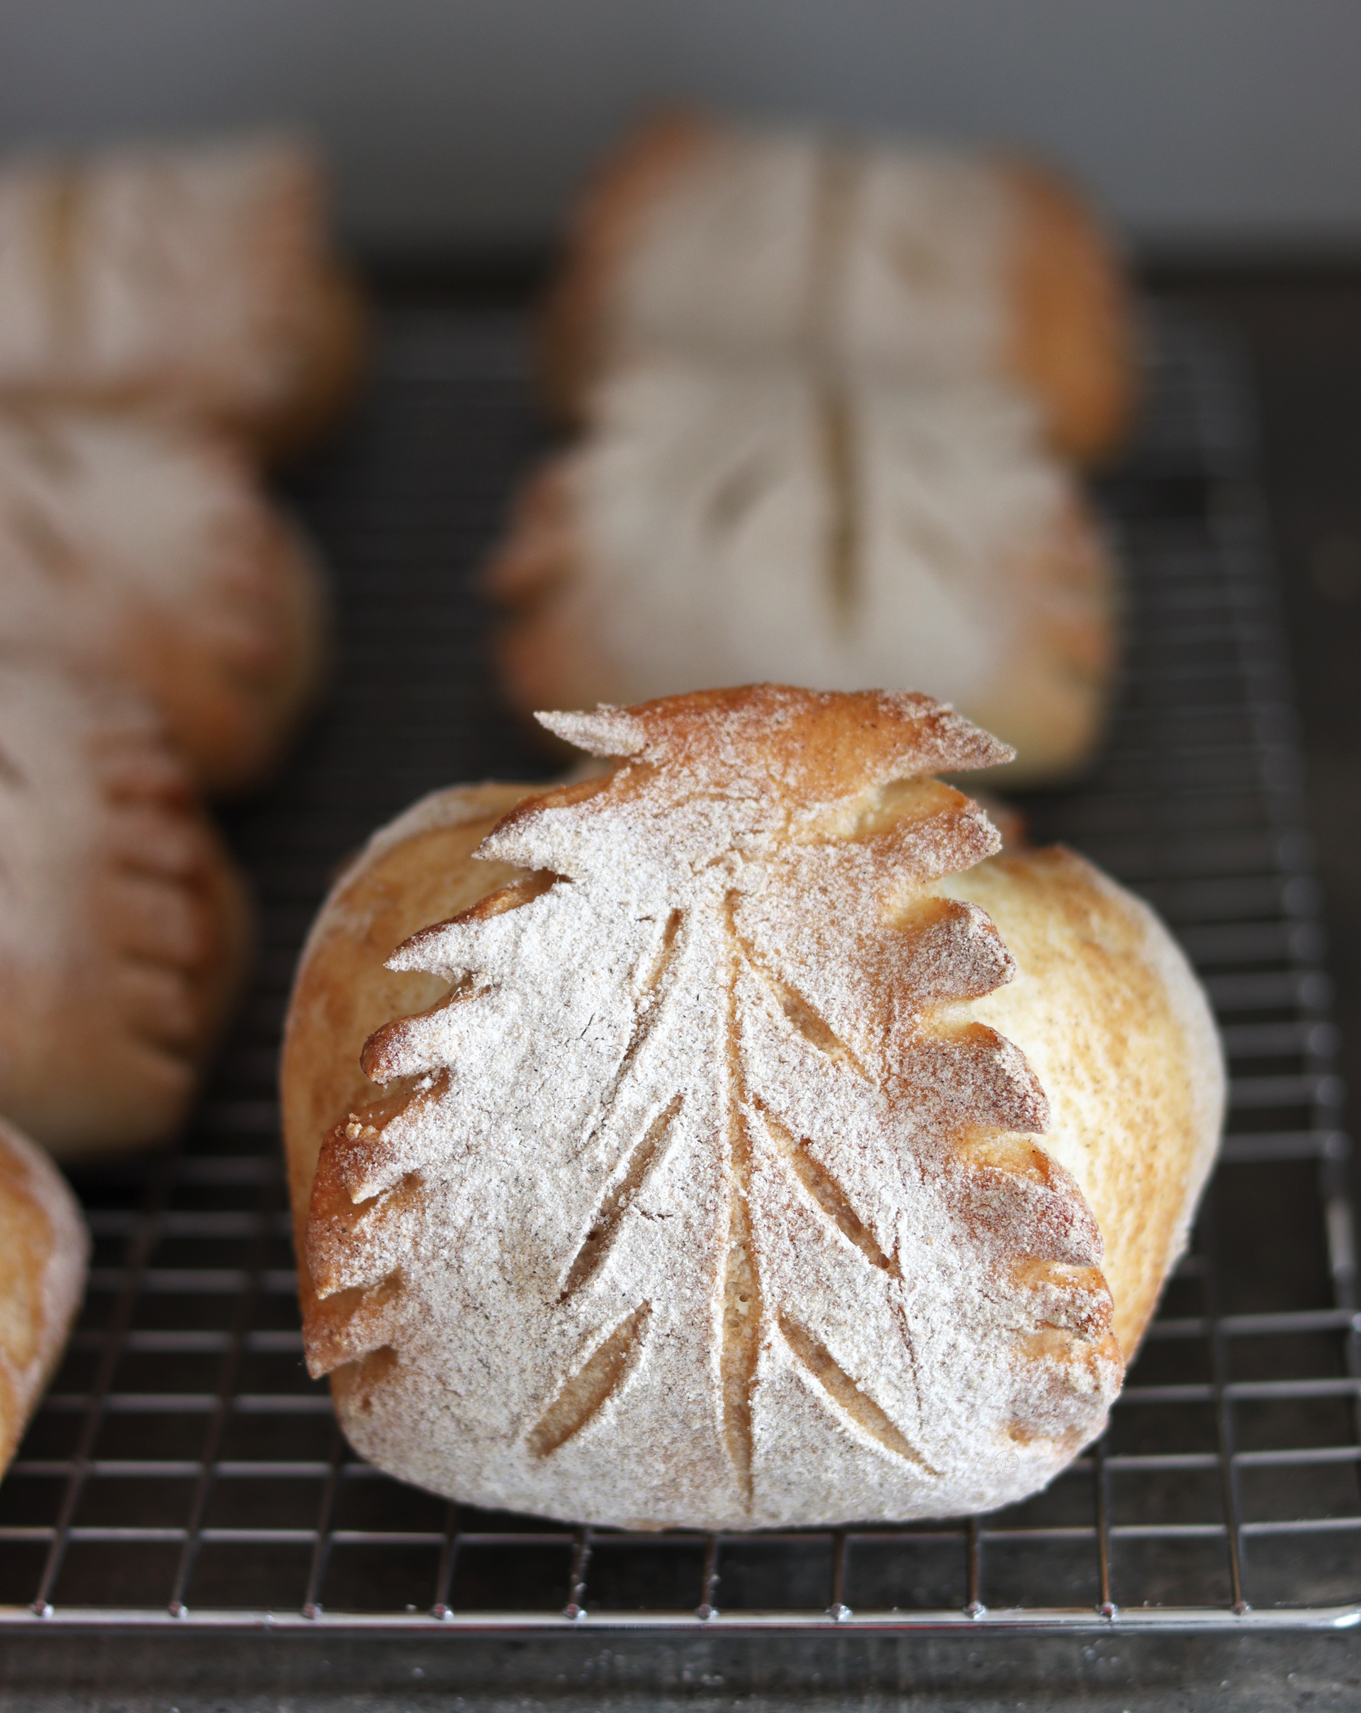
[[[1361,250],[1358,0],[0,0],[0,144],[302,118],[369,245],[538,240],[658,101],[1027,142],[1152,245]]]

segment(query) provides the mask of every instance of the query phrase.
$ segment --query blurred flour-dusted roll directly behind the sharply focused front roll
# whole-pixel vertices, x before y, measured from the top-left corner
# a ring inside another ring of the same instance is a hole
[[[1111,564],[1030,404],[987,384],[835,387],[662,360],[526,490],[489,588],[525,711],[696,683],[920,687],[1016,749],[1085,762],[1114,661]]]

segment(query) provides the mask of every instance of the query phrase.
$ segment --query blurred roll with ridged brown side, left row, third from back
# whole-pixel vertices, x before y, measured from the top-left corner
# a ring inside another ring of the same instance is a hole
[[[141,697],[0,656],[0,1112],[60,1160],[183,1120],[249,940]]]

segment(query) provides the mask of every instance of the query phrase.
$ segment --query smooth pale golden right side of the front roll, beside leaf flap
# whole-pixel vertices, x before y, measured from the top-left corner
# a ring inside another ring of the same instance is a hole
[[[992,856],[944,889],[982,906],[1016,959],[972,1014],[1049,1095],[1044,1151],[1097,1218],[1130,1362],[1219,1143],[1224,1060],[1205,995],[1154,911],[1073,851]]]

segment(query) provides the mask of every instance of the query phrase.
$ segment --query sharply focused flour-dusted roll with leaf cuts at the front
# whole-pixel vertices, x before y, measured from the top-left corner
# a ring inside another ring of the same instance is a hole
[[[1066,851],[989,860],[927,776],[1004,750],[927,697],[543,718],[621,764],[418,805],[298,971],[305,1345],[345,1432],[610,1525],[1040,1487],[1100,1432],[1215,1151],[1167,932]]]

